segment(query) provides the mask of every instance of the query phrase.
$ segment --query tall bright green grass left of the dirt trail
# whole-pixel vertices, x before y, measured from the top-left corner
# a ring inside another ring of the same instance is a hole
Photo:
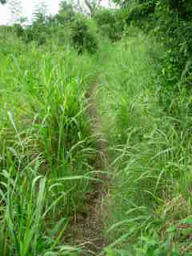
[[[0,254],[78,254],[64,238],[94,178],[86,90],[96,59],[51,42],[0,47]]]

